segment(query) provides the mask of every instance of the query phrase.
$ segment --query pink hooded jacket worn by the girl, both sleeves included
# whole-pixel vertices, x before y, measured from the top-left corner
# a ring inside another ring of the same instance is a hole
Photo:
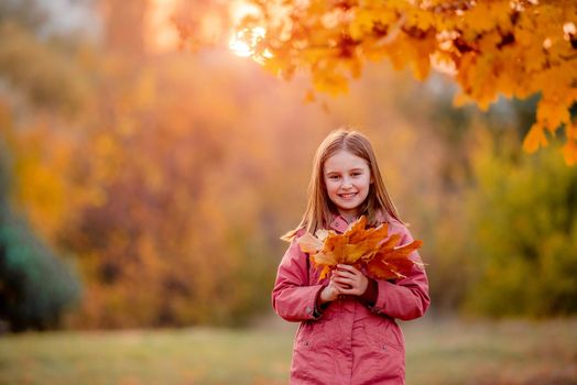
[[[339,216],[330,228],[344,232],[348,223]],[[400,244],[413,238],[401,223],[389,226],[401,233]],[[421,260],[413,252],[414,260]],[[373,307],[358,297],[345,296],[318,316],[315,301],[328,278],[318,272],[295,241],[284,254],[272,292],[273,308],[287,321],[301,322],[295,336],[291,384],[404,384],[404,339],[395,318],[422,317],[431,299],[425,271],[414,267],[406,278],[377,280]]]

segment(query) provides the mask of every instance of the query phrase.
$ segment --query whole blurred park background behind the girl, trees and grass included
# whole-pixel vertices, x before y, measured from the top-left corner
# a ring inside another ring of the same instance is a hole
[[[522,153],[538,96],[457,109],[381,63],[311,98],[213,44],[229,6],[0,0],[0,383],[287,383],[279,237],[348,125],[424,241],[407,383],[577,384],[577,168]]]

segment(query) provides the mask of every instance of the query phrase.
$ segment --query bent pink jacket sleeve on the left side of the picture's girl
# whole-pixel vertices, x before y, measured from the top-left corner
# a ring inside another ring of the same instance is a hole
[[[279,265],[272,290],[272,307],[287,321],[315,320],[320,317],[315,311],[315,305],[323,285],[308,285],[307,258],[308,255],[293,240]]]

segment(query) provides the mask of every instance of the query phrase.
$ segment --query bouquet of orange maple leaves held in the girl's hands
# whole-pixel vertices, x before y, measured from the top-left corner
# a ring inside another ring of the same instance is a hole
[[[320,270],[318,280],[325,278],[338,264],[364,267],[366,272],[378,279],[403,278],[413,265],[423,263],[409,257],[411,252],[423,244],[412,241],[396,245],[401,234],[389,237],[389,226],[367,227],[367,217],[360,217],[347,231],[338,234],[333,230],[318,230],[315,235],[306,233],[296,240],[301,250],[309,254],[311,262]]]

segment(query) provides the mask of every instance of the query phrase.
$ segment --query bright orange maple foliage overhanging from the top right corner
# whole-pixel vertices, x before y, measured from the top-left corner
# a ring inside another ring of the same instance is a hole
[[[541,94],[523,148],[534,152],[565,133],[563,154],[577,163],[577,13],[575,1],[308,0],[249,1],[238,30],[250,35],[252,57],[285,78],[311,74],[314,88],[348,89],[369,61],[388,58],[417,79],[431,69],[460,86],[456,105],[486,110],[500,95]],[[249,31],[264,29],[253,38]]]

